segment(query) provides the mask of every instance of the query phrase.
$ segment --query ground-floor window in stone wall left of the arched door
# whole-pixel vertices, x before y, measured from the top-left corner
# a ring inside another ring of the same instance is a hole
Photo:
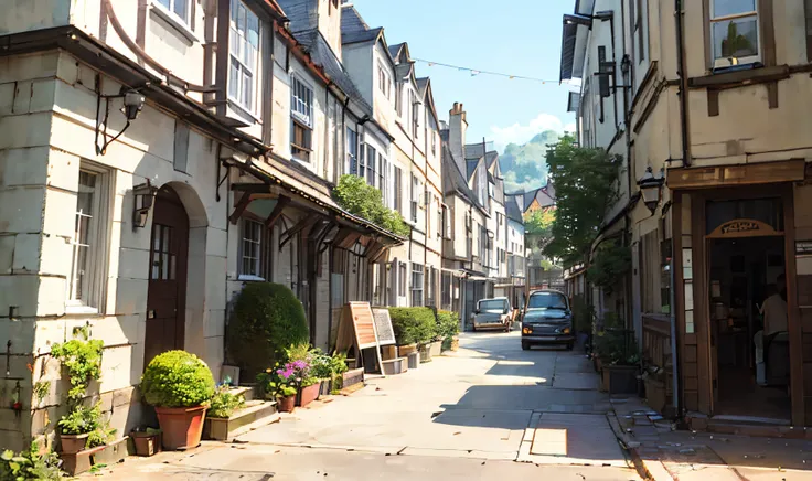
[[[99,308],[104,301],[107,256],[108,175],[96,170],[79,170],[76,218],[71,239],[71,278],[67,306]]]

